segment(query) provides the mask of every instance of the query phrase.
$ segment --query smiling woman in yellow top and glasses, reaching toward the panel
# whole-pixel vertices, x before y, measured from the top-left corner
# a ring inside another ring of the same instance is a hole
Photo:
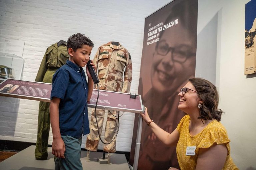
[[[223,112],[218,109],[216,87],[205,79],[191,78],[178,95],[178,109],[187,115],[171,134],[149,118],[147,108],[141,116],[160,141],[176,146],[180,169],[238,169],[230,157],[226,129],[219,122]]]

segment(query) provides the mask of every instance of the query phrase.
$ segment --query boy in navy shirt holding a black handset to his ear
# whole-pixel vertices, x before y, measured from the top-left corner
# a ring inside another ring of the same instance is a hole
[[[82,170],[81,142],[82,136],[90,133],[87,101],[94,85],[88,69],[87,83],[82,67],[89,61],[92,48],[93,42],[85,35],[70,36],[67,41],[69,60],[53,75],[50,119],[52,154],[58,157],[55,169]],[[95,69],[95,65],[91,65]]]

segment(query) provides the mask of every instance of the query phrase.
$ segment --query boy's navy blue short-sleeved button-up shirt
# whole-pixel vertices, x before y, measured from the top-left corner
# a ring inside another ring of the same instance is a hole
[[[53,75],[51,99],[60,98],[60,134],[79,138],[90,133],[87,110],[88,83],[82,67],[67,60]]]

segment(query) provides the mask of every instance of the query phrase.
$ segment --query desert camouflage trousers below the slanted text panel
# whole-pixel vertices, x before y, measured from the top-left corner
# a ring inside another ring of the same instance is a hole
[[[97,151],[98,145],[99,145],[99,140],[100,140],[94,111],[95,111],[95,109],[92,109],[91,121],[90,121],[90,134],[88,134],[87,139],[86,139],[86,144],[85,144],[85,148],[90,151]],[[105,111],[106,110],[103,110],[103,109],[96,109],[96,117],[97,117],[100,135],[102,132]],[[107,112],[108,112],[108,118],[107,118],[106,127],[105,127],[105,136],[104,136],[105,140],[102,139],[105,143],[109,143],[113,139],[113,137],[117,133],[117,128],[118,128],[117,126],[119,126],[118,120],[117,120],[118,111],[107,110]],[[113,140],[112,143],[110,143],[108,145],[104,144],[103,150],[105,152],[115,153],[116,152],[116,138]]]

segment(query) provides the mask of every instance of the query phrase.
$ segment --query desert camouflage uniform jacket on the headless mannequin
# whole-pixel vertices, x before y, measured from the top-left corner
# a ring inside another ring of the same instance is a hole
[[[94,63],[98,69],[100,90],[130,92],[132,60],[129,52],[121,44],[116,46],[108,42],[100,46]]]

